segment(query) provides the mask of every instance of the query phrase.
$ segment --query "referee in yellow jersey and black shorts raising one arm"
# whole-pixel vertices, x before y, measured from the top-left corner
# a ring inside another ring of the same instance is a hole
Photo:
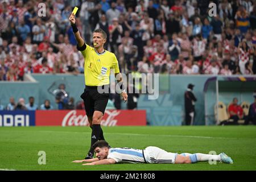
[[[92,159],[94,155],[92,145],[98,140],[105,140],[101,129],[101,119],[104,115],[106,105],[108,104],[109,92],[99,93],[98,89],[108,90],[110,69],[114,69],[115,77],[119,78],[117,81],[122,90],[122,98],[125,102],[128,96],[123,86],[117,57],[115,57],[114,53],[104,49],[107,38],[106,32],[101,28],[94,30],[94,47],[90,47],[84,42],[77,30],[74,14],[69,16],[69,21],[71,22],[78,43],[77,49],[81,51],[84,56],[85,89],[84,93],[81,94],[81,98],[84,100],[86,115],[90,128],[92,129],[91,147],[85,159]]]

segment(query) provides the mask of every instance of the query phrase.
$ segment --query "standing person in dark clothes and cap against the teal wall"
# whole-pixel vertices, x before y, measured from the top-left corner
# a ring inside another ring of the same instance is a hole
[[[185,101],[185,125],[193,125],[195,119],[195,102],[197,101],[193,94],[193,88],[195,85],[188,84],[187,90],[184,94]]]

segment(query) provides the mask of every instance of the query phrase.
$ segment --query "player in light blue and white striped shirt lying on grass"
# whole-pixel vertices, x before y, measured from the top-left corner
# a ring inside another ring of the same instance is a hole
[[[144,150],[134,148],[110,148],[108,142],[99,140],[92,146],[96,157],[93,159],[75,160],[73,163],[87,162],[82,165],[100,165],[115,163],[163,163],[163,164],[190,164],[216,160],[233,164],[233,160],[224,152],[219,155],[209,154],[177,154],[162,150],[158,147],[147,147]]]

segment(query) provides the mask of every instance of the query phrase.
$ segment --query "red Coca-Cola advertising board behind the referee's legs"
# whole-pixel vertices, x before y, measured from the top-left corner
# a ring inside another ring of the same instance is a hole
[[[36,110],[35,126],[89,126],[84,110]],[[146,126],[146,110],[106,110],[102,126]]]

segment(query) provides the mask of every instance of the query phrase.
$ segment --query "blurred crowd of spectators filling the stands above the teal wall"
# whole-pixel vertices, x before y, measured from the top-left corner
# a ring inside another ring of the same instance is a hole
[[[93,30],[105,30],[105,49],[123,73],[256,74],[255,1],[2,0],[0,81],[23,80],[24,73],[83,73],[68,20],[75,6],[86,43],[92,45]]]

